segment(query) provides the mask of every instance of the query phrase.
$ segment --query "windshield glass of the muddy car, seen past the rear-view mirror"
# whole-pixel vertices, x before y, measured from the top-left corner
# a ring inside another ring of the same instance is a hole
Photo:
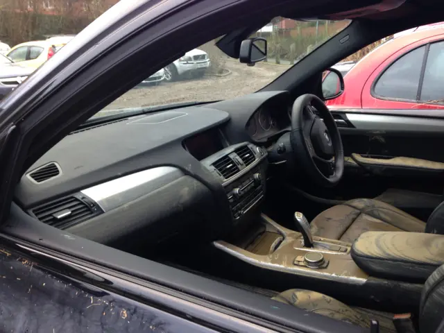
[[[146,78],[94,117],[134,108],[220,101],[257,92],[348,24],[348,20],[277,17],[252,35],[266,38],[268,44],[268,58],[254,67],[226,56],[215,45],[220,38],[212,40]]]

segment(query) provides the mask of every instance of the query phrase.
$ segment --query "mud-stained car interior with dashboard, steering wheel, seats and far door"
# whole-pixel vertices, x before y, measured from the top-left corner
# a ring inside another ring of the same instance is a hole
[[[400,332],[393,316],[408,313],[435,332],[444,119],[330,112],[325,64],[346,55],[316,56],[334,40],[291,89],[274,89],[284,74],[235,99],[85,123],[24,173],[8,233],[74,235],[359,327]]]

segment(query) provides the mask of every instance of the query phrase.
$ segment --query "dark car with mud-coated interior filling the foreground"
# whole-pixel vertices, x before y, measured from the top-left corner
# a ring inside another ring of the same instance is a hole
[[[444,119],[330,112],[321,84],[441,8],[119,1],[0,102],[0,331],[442,333]],[[292,67],[251,66],[264,22],[304,37],[283,15],[334,33]],[[133,90],[214,40],[231,75]]]

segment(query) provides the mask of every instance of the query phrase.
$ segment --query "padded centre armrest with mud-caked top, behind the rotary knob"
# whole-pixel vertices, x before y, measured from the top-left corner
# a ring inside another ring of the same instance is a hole
[[[425,282],[444,264],[444,235],[422,232],[365,232],[353,243],[357,266],[375,278]]]

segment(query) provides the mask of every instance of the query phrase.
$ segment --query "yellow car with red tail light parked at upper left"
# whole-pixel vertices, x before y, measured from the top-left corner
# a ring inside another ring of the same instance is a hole
[[[18,44],[10,49],[6,56],[23,67],[37,68],[73,38],[74,36],[51,37],[47,40]]]

